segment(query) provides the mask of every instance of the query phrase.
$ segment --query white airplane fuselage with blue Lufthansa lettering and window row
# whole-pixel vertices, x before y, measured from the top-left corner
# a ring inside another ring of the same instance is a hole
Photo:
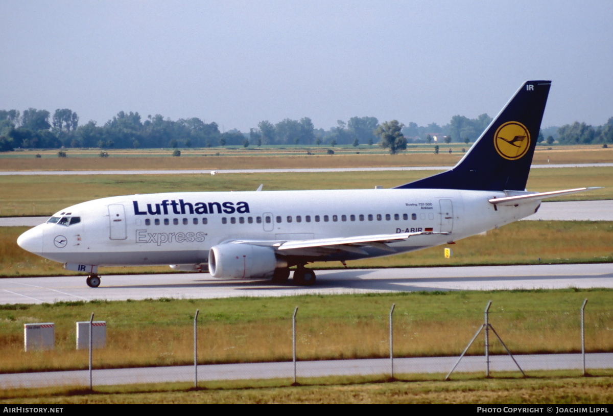
[[[488,202],[500,191],[330,190],[185,192],[116,196],[83,202],[24,233],[21,247],[61,263],[110,265],[202,264],[211,247],[227,241],[303,241],[419,231],[389,244],[394,252],[308,250],[308,261],[355,260],[432,247],[482,233],[535,212],[540,201],[519,206]],[[76,221],[76,220],[73,220]]]

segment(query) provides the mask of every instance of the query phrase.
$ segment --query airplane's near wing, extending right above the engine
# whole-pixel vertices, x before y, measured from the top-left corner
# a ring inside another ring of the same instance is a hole
[[[360,247],[370,246],[381,250],[394,253],[395,250],[387,243],[406,240],[409,237],[428,236],[433,234],[448,235],[449,233],[438,233],[435,231],[421,231],[419,233],[398,233],[398,234],[373,234],[370,236],[322,238],[310,240],[291,240],[291,241],[234,241],[236,244],[253,244],[273,247],[279,252],[293,255],[312,255],[314,251],[321,250],[341,250],[352,253],[367,254]]]

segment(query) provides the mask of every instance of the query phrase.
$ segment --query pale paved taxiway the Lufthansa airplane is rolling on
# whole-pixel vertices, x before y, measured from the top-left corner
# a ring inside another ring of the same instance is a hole
[[[432,290],[613,288],[613,264],[542,264],[449,268],[340,269],[316,271],[313,287],[292,281],[219,280],[208,273],[104,275],[98,288],[85,276],[0,279],[0,304],[126,299],[211,299]]]

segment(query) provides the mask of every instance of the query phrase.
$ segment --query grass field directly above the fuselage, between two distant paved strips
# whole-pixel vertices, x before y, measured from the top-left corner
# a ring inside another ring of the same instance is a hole
[[[116,195],[173,191],[246,191],[391,188],[436,171],[323,172],[218,175],[0,176],[0,216],[51,215],[78,202]],[[613,199],[613,168],[533,169],[528,190],[604,187],[555,200]]]

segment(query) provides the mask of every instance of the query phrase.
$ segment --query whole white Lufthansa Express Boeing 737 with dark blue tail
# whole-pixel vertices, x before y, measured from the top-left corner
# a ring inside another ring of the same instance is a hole
[[[88,274],[170,264],[219,279],[313,285],[305,266],[451,244],[591,188],[526,191],[550,81],[528,81],[451,169],[391,189],[175,192],[67,207],[18,237],[28,252]],[[503,137],[514,137],[504,139]]]

